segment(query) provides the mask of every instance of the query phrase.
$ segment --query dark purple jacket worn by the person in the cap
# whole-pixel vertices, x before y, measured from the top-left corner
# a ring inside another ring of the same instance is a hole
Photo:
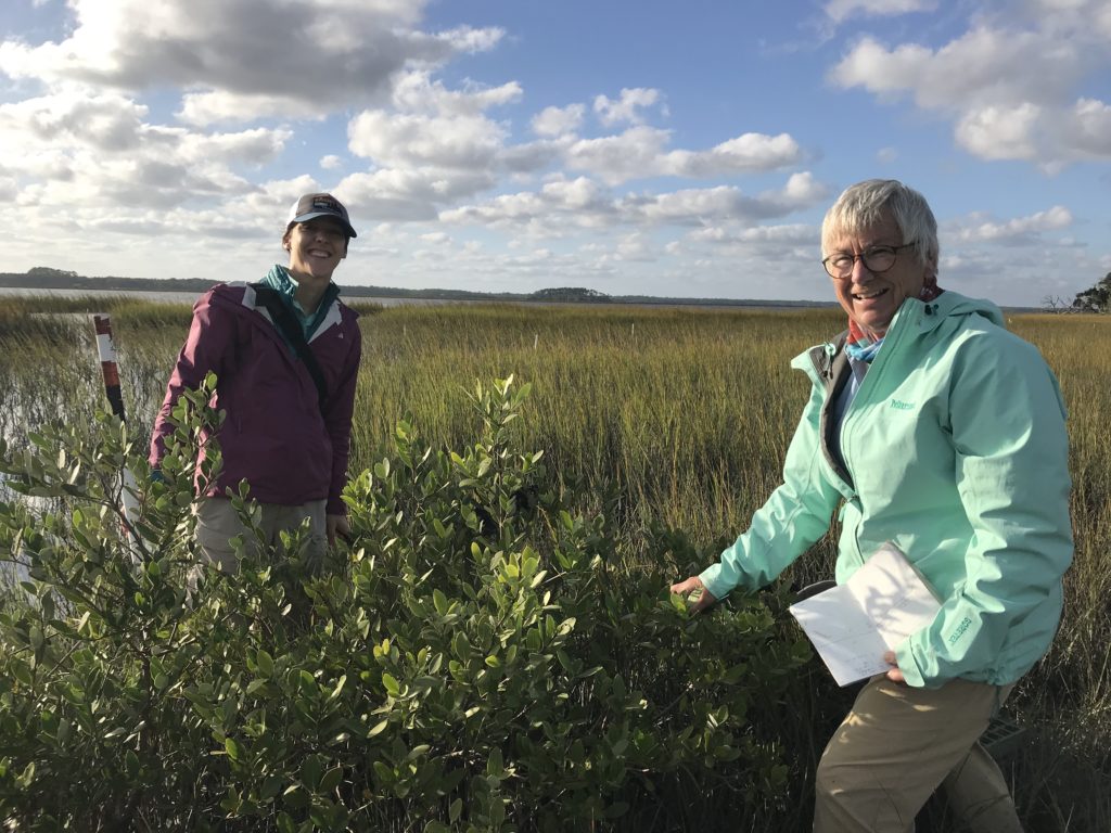
[[[317,387],[303,362],[256,305],[246,284],[218,284],[193,307],[189,338],[154,421],[150,463],[158,466],[173,426],[168,416],[181,391],[217,374],[212,407],[227,412],[217,433],[223,469],[206,495],[223,495],[241,480],[262,503],[299,505],[328,499],[328,514],[346,514],[340,492],[351,450],[351,414],[362,337],[358,313],[338,300],[309,345],[324,373],[321,412]]]

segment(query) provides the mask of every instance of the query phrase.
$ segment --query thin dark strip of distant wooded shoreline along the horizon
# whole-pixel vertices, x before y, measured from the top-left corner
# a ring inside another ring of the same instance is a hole
[[[218,281],[202,278],[86,278],[77,272],[34,267],[22,274],[0,272],[0,287],[11,289],[61,289],[112,292],[193,292],[200,294]],[[409,298],[430,301],[503,301],[510,303],[613,303],[637,305],[690,307],[835,307],[835,301],[765,301],[729,298],[660,298],[654,295],[610,295],[594,289],[559,287],[536,292],[471,292],[459,289],[396,289],[392,287],[350,287],[343,297]]]

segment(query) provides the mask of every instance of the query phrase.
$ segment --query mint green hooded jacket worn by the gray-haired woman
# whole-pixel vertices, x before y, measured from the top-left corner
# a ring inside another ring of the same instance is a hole
[[[842,342],[791,362],[813,387],[783,484],[702,582],[718,599],[771,582],[839,511],[839,583],[892,541],[942,600],[895,651],[910,685],[1018,680],[1049,650],[1072,560],[1053,373],[993,304],[955,292],[908,299],[845,411],[838,456],[830,409],[850,373]]]

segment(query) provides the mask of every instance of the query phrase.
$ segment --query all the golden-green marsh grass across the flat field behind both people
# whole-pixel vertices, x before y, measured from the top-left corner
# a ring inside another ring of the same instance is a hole
[[[678,570],[700,568],[741,532],[779,482],[809,383],[791,358],[843,329],[833,310],[747,311],[541,305],[358,305],[363,364],[352,469],[384,451],[397,420],[449,448],[473,442],[474,380],[516,374],[533,387],[520,430],[542,449],[549,488],[614,514],[625,569],[650,529],[681,530]],[[188,329],[188,305],[128,299],[6,299],[0,307],[0,428],[8,438],[103,407],[87,313],[112,314],[130,422],[149,429]],[[1111,810],[1111,317],[1011,317],[1037,344],[1070,410],[1075,561],[1049,655],[1009,713],[1032,741],[1013,761],[1031,831],[1109,830]],[[782,581],[831,572],[828,535]],[[687,563],[684,563],[684,560]],[[814,678],[800,719],[814,742],[795,751],[797,787],[840,713]],[[804,783],[805,782],[805,783]],[[692,801],[702,799],[691,796]],[[805,816],[804,809],[797,821]],[[707,827],[710,829],[710,827]],[[784,827],[787,830],[788,827]]]

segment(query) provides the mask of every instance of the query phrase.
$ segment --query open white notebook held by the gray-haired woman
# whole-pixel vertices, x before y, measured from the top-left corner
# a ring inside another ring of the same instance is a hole
[[[848,582],[789,610],[838,685],[887,672],[883,661],[941,609],[933,591],[892,543],[878,549]]]

